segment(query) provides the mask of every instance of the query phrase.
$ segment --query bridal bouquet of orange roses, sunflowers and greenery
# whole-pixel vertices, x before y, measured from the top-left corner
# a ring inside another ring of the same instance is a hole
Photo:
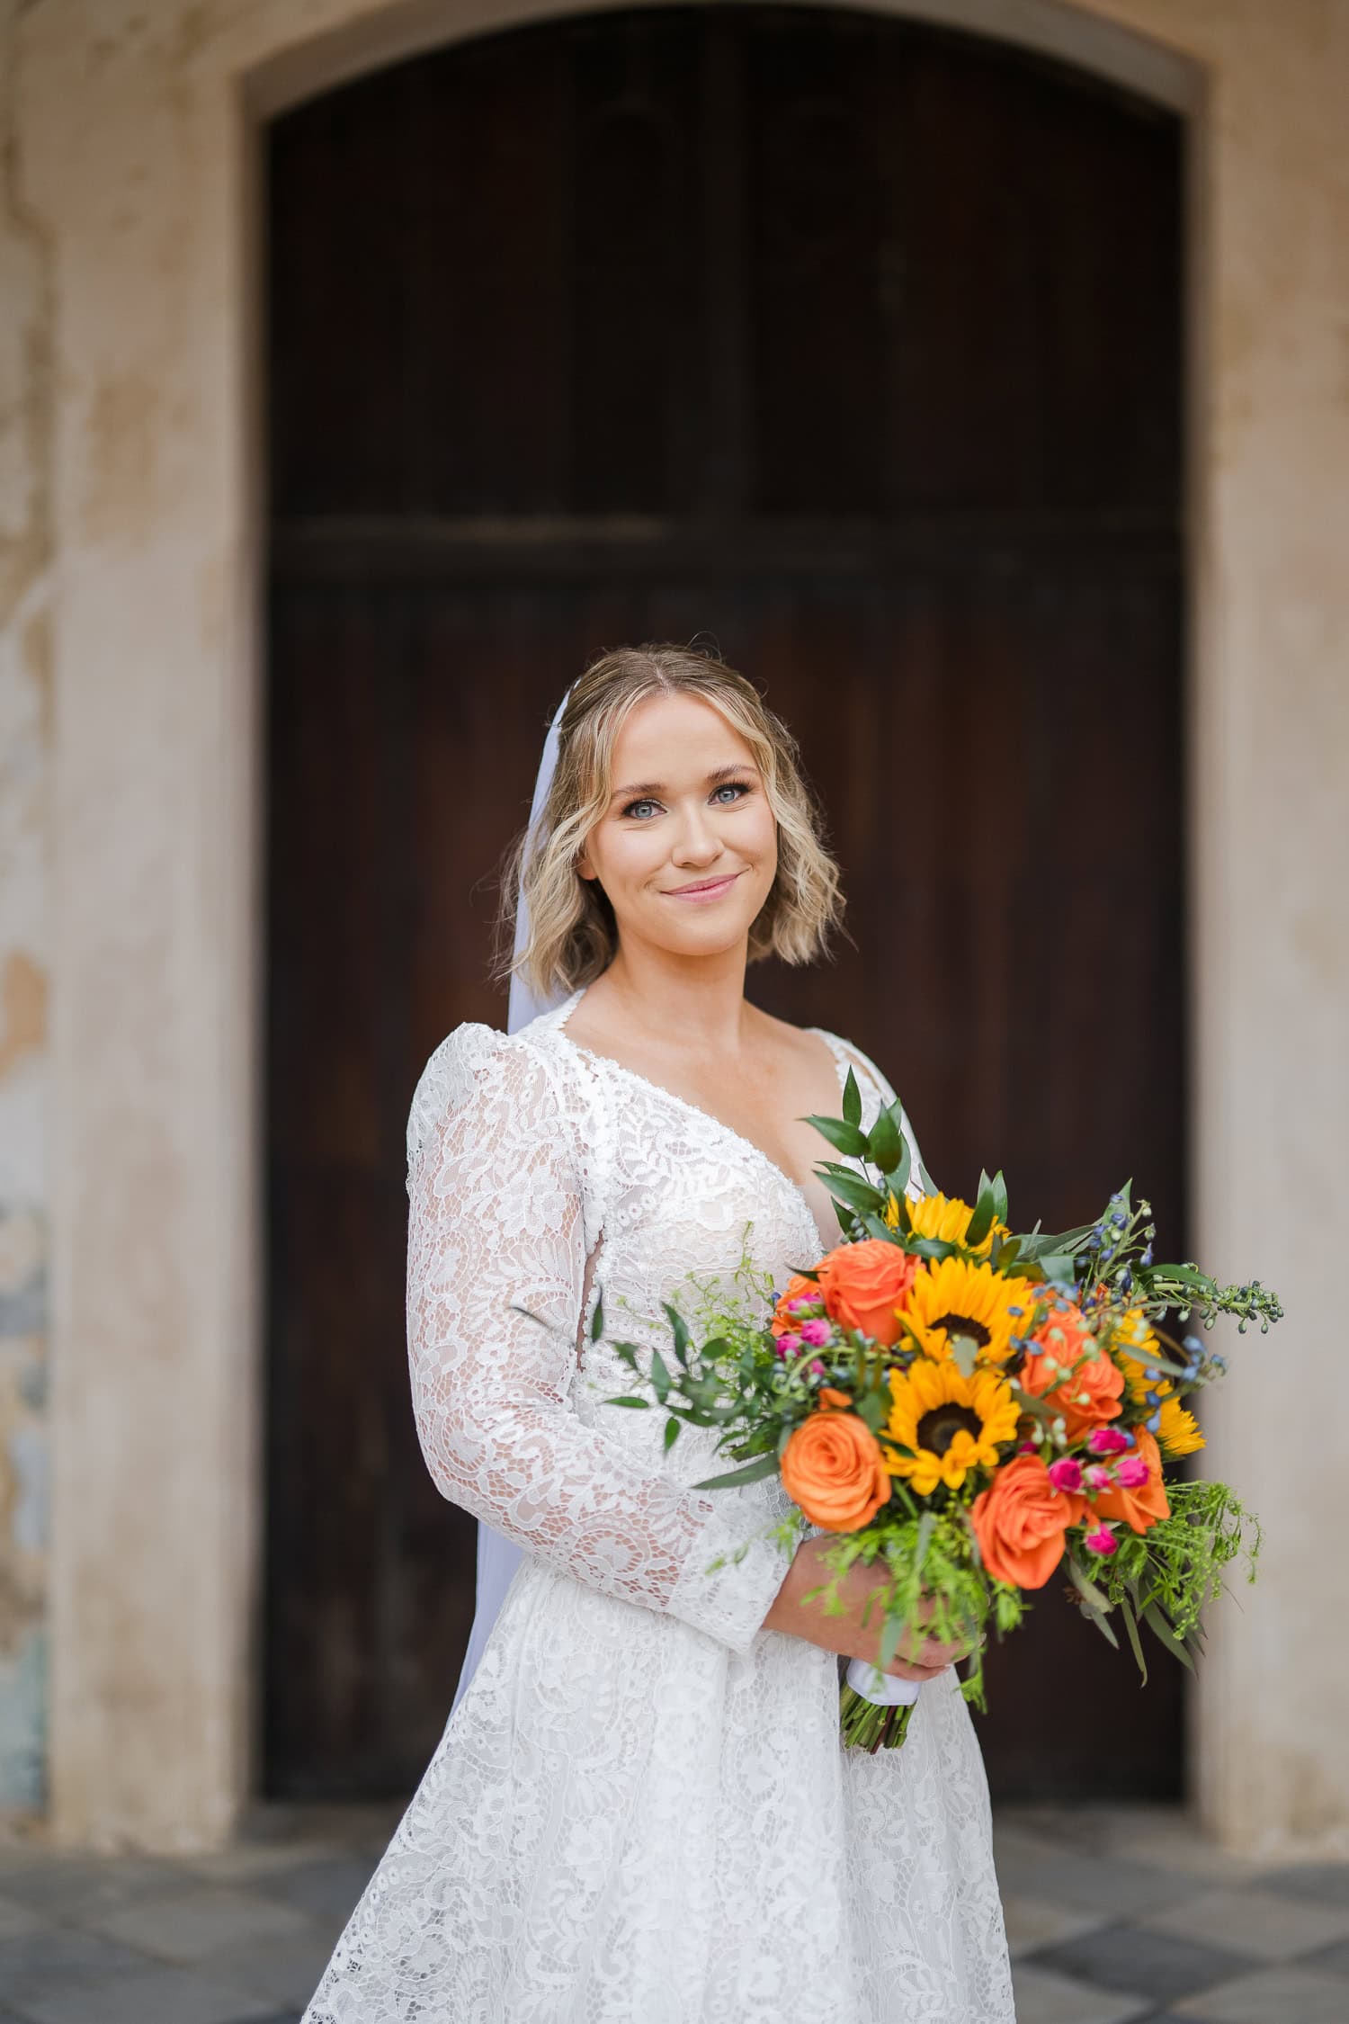
[[[1226,1484],[1169,1478],[1203,1447],[1183,1399],[1226,1362],[1165,1324],[1234,1314],[1266,1332],[1278,1299],[1155,1263],[1149,1204],[1129,1188],[1060,1237],[1011,1233],[1001,1174],[981,1176],[973,1204],[910,1200],[900,1117],[896,1101],[864,1131],[849,1073],[843,1115],[811,1119],[858,1162],[817,1168],[839,1245],[781,1289],[722,1297],[698,1340],[667,1305],[669,1356],[615,1342],[637,1384],[609,1403],[663,1409],[665,1447],[684,1425],[718,1429],[738,1465],[700,1490],[781,1478],[791,1512],[775,1536],[831,1536],[831,1581],[811,1591],[825,1609],[843,1609],[853,1563],[880,1567],[882,1666],[906,1635],[969,1643],[963,1692],[983,1706],[989,1625],[1013,1629],[1056,1571],[1116,1648],[1122,1627],[1145,1678],[1141,1629],[1189,1666],[1224,1569],[1242,1558],[1254,1579],[1258,1526]],[[902,1745],[912,1698],[853,1660],[843,1741]]]

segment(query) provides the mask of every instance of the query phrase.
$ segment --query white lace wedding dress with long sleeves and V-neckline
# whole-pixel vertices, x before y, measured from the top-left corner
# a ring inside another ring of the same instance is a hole
[[[777,1482],[603,1401],[627,1340],[748,1251],[819,1257],[748,1140],[566,1032],[465,1024],[409,1119],[409,1354],[435,1482],[526,1548],[303,2024],[1007,2024],[979,1747],[953,1672],[902,1751],[839,1745],[833,1654],[760,1629]],[[894,1091],[847,1042],[870,1123]],[[823,1152],[823,1142],[821,1142]],[[591,1267],[591,1269],[587,1269]],[[512,1312],[550,1320],[554,1330]]]

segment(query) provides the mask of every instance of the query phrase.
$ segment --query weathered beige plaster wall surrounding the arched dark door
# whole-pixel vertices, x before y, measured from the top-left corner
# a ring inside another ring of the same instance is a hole
[[[16,1111],[26,1146],[0,1176],[12,1202],[32,1196],[30,1245],[44,1214],[53,1229],[55,1824],[202,1846],[251,1779],[255,1678],[249,121],[526,8],[0,8],[0,725],[28,753],[0,771],[0,895],[16,895],[0,974],[18,957],[20,1004],[53,988],[51,1026],[20,1010],[28,1040],[0,1042],[0,1125]],[[1268,1548],[1262,1585],[1224,1613],[1197,1761],[1230,1844],[1345,1852],[1349,4],[916,12],[1076,57],[1195,119],[1197,1231],[1205,1261],[1288,1301],[1216,1415],[1213,1461]],[[0,1635],[0,1694],[4,1664]]]

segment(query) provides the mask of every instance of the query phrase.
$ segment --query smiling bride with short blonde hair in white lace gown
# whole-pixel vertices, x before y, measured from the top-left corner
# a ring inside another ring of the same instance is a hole
[[[795,745],[671,646],[595,662],[554,729],[508,887],[548,1010],[455,1028],[409,1119],[417,1429],[518,1565],[491,1617],[479,1563],[459,1698],[303,2024],[1009,2024],[959,1654],[910,1641],[908,1743],[841,1749],[878,1571],[841,1615],[803,1601],[823,1540],[773,1544],[781,1484],[694,1490],[726,1467],[712,1433],[665,1453],[591,1340],[601,1295],[605,1334],[665,1344],[690,1273],[748,1257],[781,1285],[829,1249],[805,1115],[839,1113],[849,1067],[864,1125],[894,1099],[744,998],[746,963],[809,961],[839,911]]]

